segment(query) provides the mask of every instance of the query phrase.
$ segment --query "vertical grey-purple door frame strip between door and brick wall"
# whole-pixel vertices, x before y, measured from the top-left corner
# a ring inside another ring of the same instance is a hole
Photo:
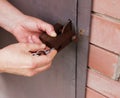
[[[77,0],[76,98],[86,98],[92,0]]]

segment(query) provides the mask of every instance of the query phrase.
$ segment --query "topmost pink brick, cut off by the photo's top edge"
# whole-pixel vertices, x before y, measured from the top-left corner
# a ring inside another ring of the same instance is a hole
[[[120,19],[120,0],[93,0],[95,12],[107,14]]]

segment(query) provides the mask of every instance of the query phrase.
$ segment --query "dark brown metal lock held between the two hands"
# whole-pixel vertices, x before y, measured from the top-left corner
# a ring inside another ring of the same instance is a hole
[[[56,37],[51,37],[45,32],[40,35],[40,40],[46,44],[50,49],[54,48],[58,52],[65,48],[72,41],[77,39],[77,35],[72,28],[72,21],[68,20],[65,25],[56,23],[54,25],[55,32],[57,33]]]

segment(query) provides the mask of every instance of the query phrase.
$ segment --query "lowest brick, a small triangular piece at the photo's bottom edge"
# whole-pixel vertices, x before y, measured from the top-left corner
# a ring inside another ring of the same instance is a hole
[[[94,90],[87,88],[86,98],[107,98]]]

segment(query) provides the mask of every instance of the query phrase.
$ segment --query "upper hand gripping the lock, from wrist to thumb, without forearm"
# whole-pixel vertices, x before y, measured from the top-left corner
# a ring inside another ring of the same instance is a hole
[[[52,25],[31,16],[24,15],[23,18],[14,25],[12,34],[19,42],[41,43],[39,36],[42,32],[46,32],[53,37],[56,36]]]

